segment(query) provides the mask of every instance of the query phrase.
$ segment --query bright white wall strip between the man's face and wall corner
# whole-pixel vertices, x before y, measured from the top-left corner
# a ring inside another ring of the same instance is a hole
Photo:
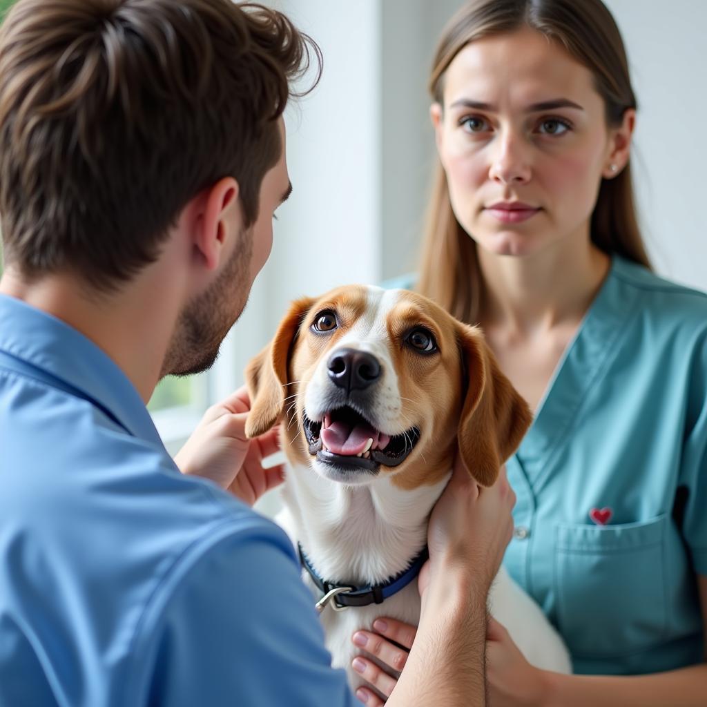
[[[271,257],[230,334],[239,380],[291,300],[380,281],[379,2],[265,3],[315,38],[325,71],[315,92],[286,110],[293,194],[277,211]]]

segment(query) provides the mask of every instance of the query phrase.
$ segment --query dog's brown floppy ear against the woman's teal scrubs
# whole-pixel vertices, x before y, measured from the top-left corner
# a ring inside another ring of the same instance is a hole
[[[481,329],[460,325],[467,391],[459,423],[459,453],[469,474],[491,486],[532,422],[525,399],[501,373]]]

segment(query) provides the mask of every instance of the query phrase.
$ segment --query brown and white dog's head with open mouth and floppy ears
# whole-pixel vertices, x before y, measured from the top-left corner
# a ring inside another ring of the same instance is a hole
[[[457,445],[489,486],[531,420],[481,331],[404,290],[296,301],[246,379],[247,435],[282,418],[292,462],[351,486],[382,474],[404,489],[434,484]]]

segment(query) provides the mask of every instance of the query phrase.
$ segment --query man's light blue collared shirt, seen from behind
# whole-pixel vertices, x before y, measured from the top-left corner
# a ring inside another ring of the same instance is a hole
[[[288,538],[184,477],[76,330],[0,296],[0,706],[352,706]]]

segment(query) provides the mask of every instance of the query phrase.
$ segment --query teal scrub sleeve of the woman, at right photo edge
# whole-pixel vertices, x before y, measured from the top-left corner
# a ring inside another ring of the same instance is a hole
[[[694,351],[679,485],[686,489],[682,530],[696,573],[707,575],[707,332]]]

